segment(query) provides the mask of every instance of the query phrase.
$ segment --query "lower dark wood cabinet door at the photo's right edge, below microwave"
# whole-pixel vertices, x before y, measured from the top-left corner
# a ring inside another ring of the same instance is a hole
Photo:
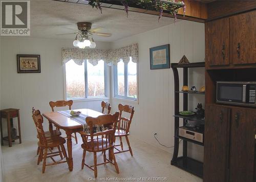
[[[253,181],[256,112],[232,109],[229,181]]]

